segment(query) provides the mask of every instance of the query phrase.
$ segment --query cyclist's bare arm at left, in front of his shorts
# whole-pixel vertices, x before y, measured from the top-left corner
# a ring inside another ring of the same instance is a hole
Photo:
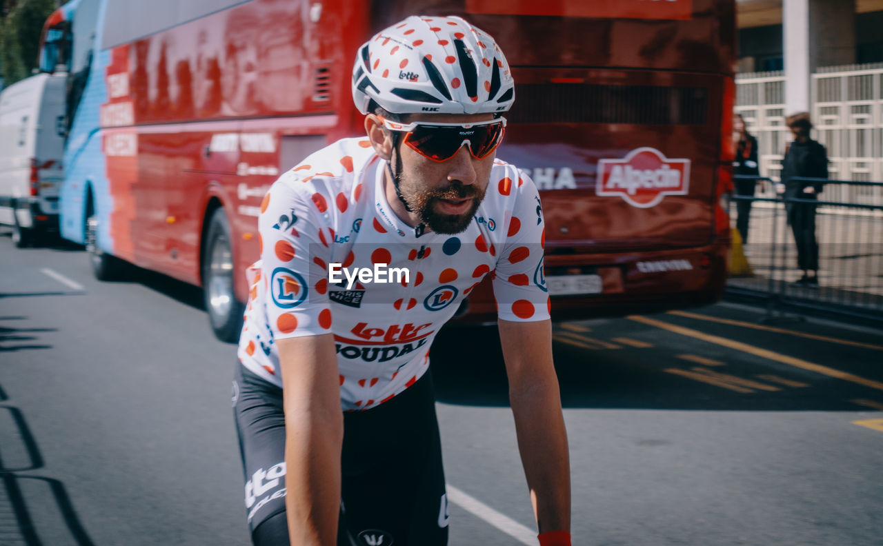
[[[343,412],[330,333],[276,341],[285,407],[285,511],[291,544],[337,543]]]

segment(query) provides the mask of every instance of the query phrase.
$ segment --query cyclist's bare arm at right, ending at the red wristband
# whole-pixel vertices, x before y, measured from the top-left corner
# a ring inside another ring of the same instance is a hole
[[[552,363],[552,323],[498,321],[518,451],[541,534],[570,531],[570,454]]]

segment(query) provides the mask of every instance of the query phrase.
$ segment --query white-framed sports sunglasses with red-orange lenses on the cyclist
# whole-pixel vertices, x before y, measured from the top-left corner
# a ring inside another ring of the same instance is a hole
[[[420,155],[432,161],[448,161],[469,145],[469,153],[483,160],[494,152],[506,132],[506,118],[498,117],[476,123],[396,123],[381,117],[383,126],[391,131],[401,131],[404,143]]]

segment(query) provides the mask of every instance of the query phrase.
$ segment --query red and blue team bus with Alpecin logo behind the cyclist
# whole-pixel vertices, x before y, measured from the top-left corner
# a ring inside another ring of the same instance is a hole
[[[411,14],[460,15],[516,81],[498,157],[540,189],[553,318],[712,303],[727,271],[735,0],[73,0],[42,68],[68,65],[62,235],[205,289],[235,339],[261,198],[364,134],[358,46]],[[494,219],[476,218],[494,222]],[[494,319],[489,282],[461,320]]]

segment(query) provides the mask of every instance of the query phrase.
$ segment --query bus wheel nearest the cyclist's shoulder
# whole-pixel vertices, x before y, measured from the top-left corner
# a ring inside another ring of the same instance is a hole
[[[242,329],[245,306],[234,293],[233,251],[230,244],[230,222],[223,208],[212,213],[208,223],[205,253],[202,258],[202,291],[205,295],[208,322],[215,336],[235,342]]]

